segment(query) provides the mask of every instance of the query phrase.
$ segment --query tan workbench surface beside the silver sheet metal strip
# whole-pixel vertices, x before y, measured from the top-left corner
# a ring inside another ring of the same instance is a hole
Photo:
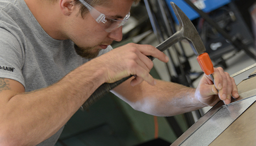
[[[256,70],[253,72],[256,73]],[[253,74],[252,73],[252,74]],[[248,78],[237,85],[241,98],[248,92],[256,95],[256,77]],[[237,120],[221,133],[209,146],[256,146],[256,103],[253,103]]]

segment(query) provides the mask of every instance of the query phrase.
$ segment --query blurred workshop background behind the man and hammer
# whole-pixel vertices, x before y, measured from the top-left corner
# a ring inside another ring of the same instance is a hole
[[[197,28],[214,67],[232,75],[256,62],[256,0],[141,0],[123,26],[123,40],[114,42],[113,48],[126,43],[157,46],[178,31],[171,1]],[[151,75],[196,88],[203,72],[190,44],[182,40],[164,53],[170,61],[153,60]],[[253,70],[234,77],[236,84]],[[155,117],[133,110],[109,93],[85,112],[78,110],[56,146],[170,146],[210,108]]]

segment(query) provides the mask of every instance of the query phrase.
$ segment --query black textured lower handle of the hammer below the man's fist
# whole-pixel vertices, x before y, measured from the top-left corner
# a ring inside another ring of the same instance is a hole
[[[154,57],[148,56],[151,60],[154,60]],[[112,90],[114,87],[120,85],[127,79],[133,77],[133,75],[130,75],[129,77],[124,77],[119,81],[116,81],[114,83],[104,83],[101,86],[99,86],[95,92],[85,101],[85,103],[80,107],[82,111],[87,109],[90,105],[101,99],[105,94],[107,94],[110,90]]]

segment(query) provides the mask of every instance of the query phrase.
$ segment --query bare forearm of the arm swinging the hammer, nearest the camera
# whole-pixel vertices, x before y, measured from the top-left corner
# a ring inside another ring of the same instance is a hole
[[[56,133],[104,82],[100,72],[85,68],[72,71],[45,89],[10,98],[0,111],[0,130],[5,131],[1,138],[12,136],[19,145],[36,145]]]

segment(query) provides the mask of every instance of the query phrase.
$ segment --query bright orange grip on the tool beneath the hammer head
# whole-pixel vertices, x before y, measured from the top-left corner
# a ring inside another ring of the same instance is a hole
[[[213,64],[208,53],[202,53],[197,57],[198,63],[206,75],[210,75],[214,72]]]

